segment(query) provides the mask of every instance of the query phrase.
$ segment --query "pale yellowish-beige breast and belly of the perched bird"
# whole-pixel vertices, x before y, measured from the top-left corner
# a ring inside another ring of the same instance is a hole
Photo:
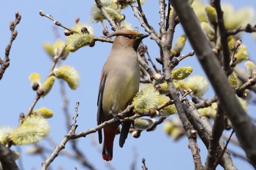
[[[117,59],[117,58],[116,58]],[[117,60],[120,60],[118,58]],[[107,65],[108,66],[108,65]],[[105,89],[102,98],[102,109],[105,115],[118,114],[138,92],[140,84],[140,67],[138,58],[116,61],[108,69]]]

